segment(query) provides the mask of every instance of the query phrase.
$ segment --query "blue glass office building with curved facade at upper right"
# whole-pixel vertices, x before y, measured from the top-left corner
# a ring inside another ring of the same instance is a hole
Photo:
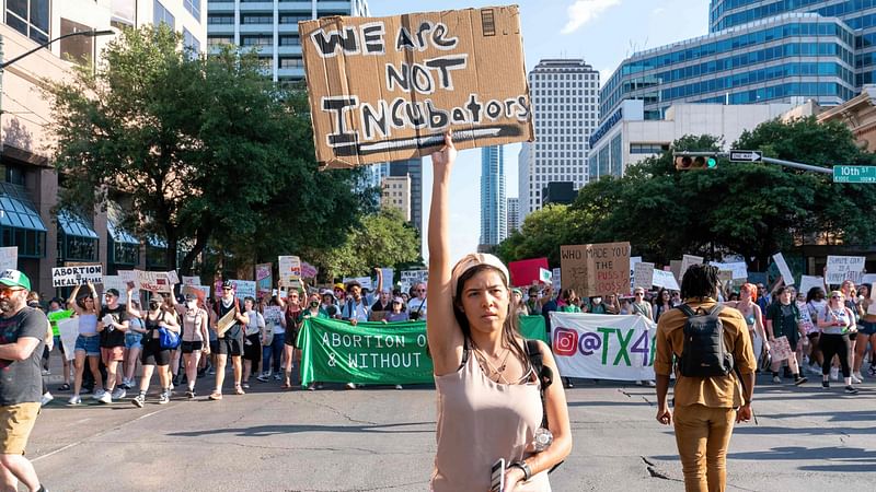
[[[833,106],[873,83],[876,2],[712,0],[705,36],[636,52],[602,87],[602,118],[643,99],[645,118],[673,103]]]

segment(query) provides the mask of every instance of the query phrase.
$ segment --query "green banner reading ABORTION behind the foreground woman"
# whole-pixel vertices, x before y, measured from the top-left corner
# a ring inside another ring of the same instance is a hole
[[[525,338],[548,341],[542,316],[520,318]],[[426,321],[359,323],[308,318],[298,336],[301,380],[308,385],[356,383],[403,385],[433,383],[426,355]]]

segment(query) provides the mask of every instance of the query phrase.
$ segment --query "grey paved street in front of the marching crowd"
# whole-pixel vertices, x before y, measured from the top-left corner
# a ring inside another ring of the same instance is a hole
[[[812,383],[760,383],[759,425],[737,427],[728,490],[872,488],[873,379],[856,397]],[[208,386],[201,379],[199,393]],[[70,408],[69,394],[56,393],[28,455],[57,491],[428,489],[431,387],[280,393],[278,386],[253,379],[250,394],[219,402],[204,396],[185,401],[177,391],[170,405],[159,406],[150,395],[143,409],[127,399]],[[683,490],[673,435],[654,420],[652,388],[579,380],[567,396],[575,447],[552,476],[554,490]]]

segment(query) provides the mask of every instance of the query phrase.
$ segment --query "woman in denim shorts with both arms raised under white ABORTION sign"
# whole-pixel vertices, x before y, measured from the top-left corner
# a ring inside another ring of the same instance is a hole
[[[89,282],[90,292],[84,297],[78,298],[81,286],[74,286],[73,292],[70,293],[70,298],[67,300],[67,307],[73,309],[79,316],[79,337],[76,339],[76,359],[73,359],[73,368],[76,371],[73,396],[68,400],[70,405],[80,405],[82,402],[79,393],[82,390],[82,375],[85,372],[87,360],[89,370],[94,376],[94,394],[92,397],[95,400],[100,400],[104,394],[103,376],[99,367],[101,361],[101,337],[97,335],[97,291],[94,290],[94,284]]]

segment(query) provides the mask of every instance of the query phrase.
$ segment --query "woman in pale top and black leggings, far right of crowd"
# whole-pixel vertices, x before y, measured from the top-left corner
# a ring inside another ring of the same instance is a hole
[[[857,388],[852,386],[852,371],[849,366],[851,350],[849,331],[854,323],[855,315],[843,303],[842,292],[831,292],[823,315],[818,317],[818,328],[821,329],[821,353],[825,355],[825,364],[821,366],[821,387],[825,389],[830,388],[830,365],[833,355],[837,355],[842,367],[845,393],[857,395]]]

